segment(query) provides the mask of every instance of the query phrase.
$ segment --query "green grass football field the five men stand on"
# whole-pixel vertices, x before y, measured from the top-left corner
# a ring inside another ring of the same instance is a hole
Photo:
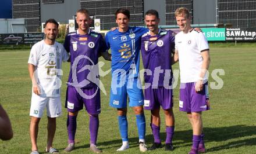
[[[14,137],[10,141],[0,141],[0,153],[30,153],[29,110],[31,81],[27,71],[29,50],[0,51],[0,103],[6,109],[12,122]],[[211,110],[203,113],[205,144],[208,153],[255,153],[256,151],[256,48],[255,47],[218,47],[211,48],[210,73],[213,69],[224,69],[220,76],[224,82],[222,89],[209,89]],[[104,61],[100,58],[101,61]],[[104,61],[104,70],[110,63]],[[174,69],[179,64],[174,65]],[[142,68],[142,67],[141,67]],[[69,63],[63,64],[62,102],[64,105],[66,80]],[[131,109],[129,118],[130,148],[116,152],[121,145],[115,109],[109,107],[110,74],[101,78],[107,95],[101,93],[101,114],[98,133],[98,147],[104,153],[138,153],[138,138],[135,116]],[[209,82],[214,80],[209,78]],[[187,153],[191,146],[191,127],[186,114],[179,112],[179,89],[174,92],[175,137],[172,153]],[[66,109],[57,119],[54,147],[63,153],[67,145]],[[145,111],[147,145],[151,146],[153,137],[150,129],[150,112]],[[163,114],[162,114],[163,119]],[[165,124],[162,120],[161,138],[165,140]],[[40,122],[38,151],[44,152],[47,137],[47,118]],[[89,147],[88,115],[80,111],[77,118],[76,149],[72,153],[91,153]],[[162,142],[164,144],[164,142]],[[147,153],[170,153],[164,148]]]

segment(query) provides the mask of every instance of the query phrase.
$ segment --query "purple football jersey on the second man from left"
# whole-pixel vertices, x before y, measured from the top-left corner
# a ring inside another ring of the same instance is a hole
[[[86,35],[80,35],[78,31],[72,32],[67,34],[64,47],[70,53],[70,73],[67,86],[97,86],[99,79],[98,54],[106,51],[101,34],[94,31],[89,31]]]

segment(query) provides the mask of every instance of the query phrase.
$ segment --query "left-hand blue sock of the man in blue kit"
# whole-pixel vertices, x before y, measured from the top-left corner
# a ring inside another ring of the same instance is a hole
[[[128,141],[128,122],[126,115],[118,116],[118,123],[122,141]]]

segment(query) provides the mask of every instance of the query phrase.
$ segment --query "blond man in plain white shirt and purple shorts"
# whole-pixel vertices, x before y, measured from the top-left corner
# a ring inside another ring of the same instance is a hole
[[[202,32],[190,25],[189,10],[175,11],[181,32],[175,36],[175,61],[180,65],[180,111],[187,112],[193,128],[193,145],[189,154],[205,152],[202,111],[209,109],[208,76],[210,64],[208,42]]]

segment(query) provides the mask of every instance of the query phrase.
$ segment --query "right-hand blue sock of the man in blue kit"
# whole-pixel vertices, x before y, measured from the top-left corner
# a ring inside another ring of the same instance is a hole
[[[145,133],[146,133],[146,122],[145,122],[144,113],[141,115],[136,115],[136,122],[137,122],[137,128],[138,128],[138,138],[144,140]]]

